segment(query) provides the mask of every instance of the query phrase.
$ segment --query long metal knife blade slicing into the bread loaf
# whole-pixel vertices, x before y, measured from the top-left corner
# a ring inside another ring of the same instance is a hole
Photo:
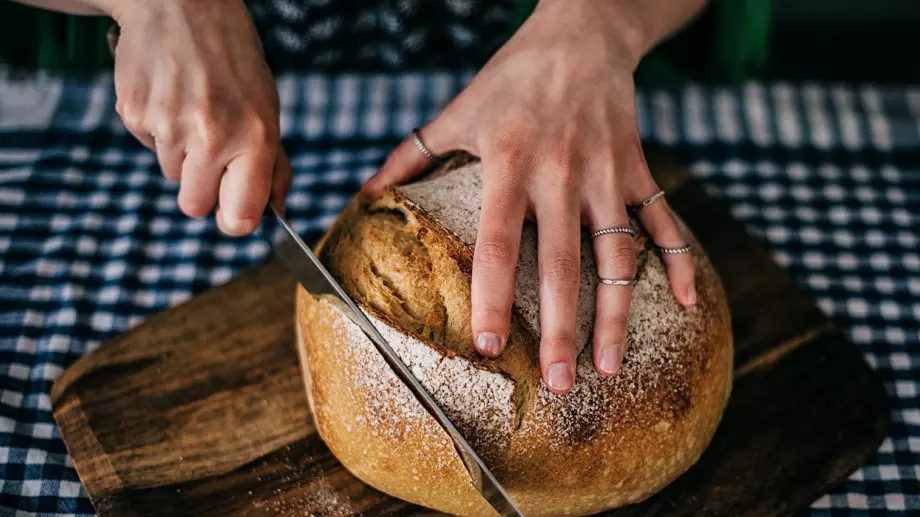
[[[269,211],[271,212],[270,214],[268,213]],[[389,363],[396,376],[405,383],[418,401],[421,402],[422,406],[447,431],[447,434],[454,442],[457,453],[463,460],[463,465],[470,474],[474,488],[479,490],[499,515],[523,517],[524,514],[521,513],[514,500],[511,499],[511,496],[508,495],[501,483],[489,471],[489,468],[476,454],[476,451],[463,438],[460,431],[447,418],[447,415],[444,414],[444,411],[438,406],[434,398],[425,390],[409,367],[390,348],[386,339],[380,335],[371,320],[358,308],[354,300],[342,289],[338,281],[333,278],[332,274],[323,266],[310,247],[304,244],[297,232],[294,231],[294,228],[284,220],[284,217],[274,206],[270,206],[266,210],[266,217],[263,217],[263,221],[266,220],[267,224],[263,225],[263,232],[275,254],[281,258],[282,262],[291,270],[294,278],[311,295],[331,294],[342,302],[338,304],[339,308],[367,334],[367,337]],[[282,231],[272,231],[273,224],[277,224]]]

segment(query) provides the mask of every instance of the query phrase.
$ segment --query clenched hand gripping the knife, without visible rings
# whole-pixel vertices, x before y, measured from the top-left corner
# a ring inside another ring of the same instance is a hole
[[[179,181],[179,208],[244,235],[271,196],[283,209],[291,167],[280,143],[278,93],[255,27],[238,0],[119,4],[116,110]]]

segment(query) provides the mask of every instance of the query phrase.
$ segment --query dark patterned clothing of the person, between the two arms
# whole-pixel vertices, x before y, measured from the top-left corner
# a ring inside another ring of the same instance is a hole
[[[272,68],[477,68],[515,0],[248,0]]]

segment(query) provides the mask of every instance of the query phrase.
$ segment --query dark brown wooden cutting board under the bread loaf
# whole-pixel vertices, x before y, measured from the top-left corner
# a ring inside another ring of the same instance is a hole
[[[686,172],[649,156],[725,284],[735,386],[689,472],[610,515],[790,515],[877,449],[882,384],[814,302]],[[74,363],[54,416],[103,516],[431,513],[342,468],[317,435],[293,340],[294,281],[271,262]]]

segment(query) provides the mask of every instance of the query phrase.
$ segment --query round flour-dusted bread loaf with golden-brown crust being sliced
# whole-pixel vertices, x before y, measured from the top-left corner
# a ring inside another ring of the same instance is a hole
[[[684,308],[648,236],[636,236],[627,351],[619,374],[605,378],[592,364],[598,282],[585,233],[577,378],[571,392],[553,394],[540,380],[530,223],[505,352],[493,360],[473,348],[480,173],[478,162],[465,160],[370,203],[353,201],[317,252],[526,515],[585,515],[649,497],[697,461],[728,401],[732,336],[718,277],[694,247],[699,302]],[[494,515],[447,434],[335,300],[298,287],[296,312],[310,407],[339,461],[406,501]]]

